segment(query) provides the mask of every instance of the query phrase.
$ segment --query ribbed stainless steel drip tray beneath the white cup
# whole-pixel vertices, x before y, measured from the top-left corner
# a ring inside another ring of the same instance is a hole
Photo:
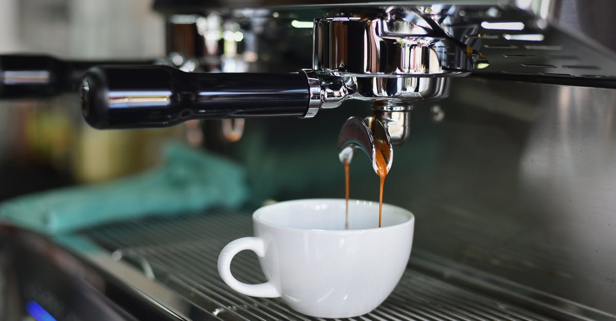
[[[83,232],[83,236],[109,250],[116,259],[121,257],[132,263],[146,277],[190,302],[193,306],[184,310],[198,313],[184,312],[188,319],[316,320],[291,311],[280,299],[240,295],[222,282],[216,267],[222,247],[233,239],[251,235],[250,213],[226,210],[115,223]],[[437,277],[438,268],[432,269],[435,274],[426,272],[426,266],[434,263],[421,263],[423,259],[414,256],[411,255],[409,268],[385,303],[369,314],[349,320],[583,319],[583,314],[572,312],[568,312],[568,317],[548,317],[541,315],[541,311],[551,309],[529,309],[532,304],[519,305],[523,300],[516,305],[495,299],[495,291],[454,284]],[[236,256],[232,271],[247,283],[265,281],[251,252]],[[165,307],[164,303],[161,309],[174,312],[173,307]]]

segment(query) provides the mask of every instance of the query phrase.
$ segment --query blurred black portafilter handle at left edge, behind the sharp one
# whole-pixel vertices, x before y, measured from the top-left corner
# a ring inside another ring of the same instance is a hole
[[[48,55],[0,55],[0,99],[41,98],[79,88],[87,69],[99,65],[151,65],[154,60],[69,61]]]

